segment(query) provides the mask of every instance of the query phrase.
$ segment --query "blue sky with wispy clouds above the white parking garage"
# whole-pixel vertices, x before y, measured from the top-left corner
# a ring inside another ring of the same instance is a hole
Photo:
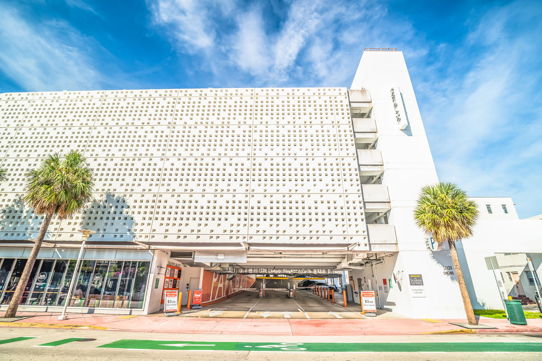
[[[542,213],[542,2],[1,1],[6,91],[350,87],[404,52],[438,176]]]

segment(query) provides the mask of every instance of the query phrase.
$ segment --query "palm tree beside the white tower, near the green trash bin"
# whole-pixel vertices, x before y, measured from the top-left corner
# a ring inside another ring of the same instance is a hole
[[[467,285],[461,271],[455,242],[473,235],[478,209],[467,193],[455,183],[440,182],[422,188],[414,209],[416,225],[438,243],[448,242],[457,283],[469,325],[476,325]]]

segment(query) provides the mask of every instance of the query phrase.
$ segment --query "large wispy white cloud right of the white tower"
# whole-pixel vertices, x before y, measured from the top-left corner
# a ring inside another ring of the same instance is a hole
[[[542,213],[542,74],[531,57],[542,25],[528,21],[542,13],[526,5],[469,21],[457,62],[428,74],[420,103],[439,177],[474,196],[512,196],[520,216]]]

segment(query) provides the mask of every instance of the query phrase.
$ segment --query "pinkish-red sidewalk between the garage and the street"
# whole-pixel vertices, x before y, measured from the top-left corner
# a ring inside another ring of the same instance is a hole
[[[70,313],[67,320],[59,321],[57,320],[59,313],[51,312],[18,312],[17,316],[27,316],[29,318],[13,322],[4,322],[0,319],[0,327],[286,336],[542,332],[542,319],[529,319],[526,326],[512,325],[512,327],[509,327],[507,321],[503,319],[481,318],[480,324],[495,328],[474,331],[451,324],[465,322],[465,320],[461,319],[267,319],[264,317],[261,319],[243,319]]]

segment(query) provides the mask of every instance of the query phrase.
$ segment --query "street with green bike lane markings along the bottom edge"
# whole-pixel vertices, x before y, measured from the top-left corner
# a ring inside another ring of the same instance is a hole
[[[296,361],[542,359],[542,335],[534,334],[288,337],[20,327],[2,327],[0,330],[2,334],[0,359],[17,361],[21,359],[282,361],[285,359],[283,355],[285,352],[294,352]],[[286,359],[293,357],[286,356]]]

